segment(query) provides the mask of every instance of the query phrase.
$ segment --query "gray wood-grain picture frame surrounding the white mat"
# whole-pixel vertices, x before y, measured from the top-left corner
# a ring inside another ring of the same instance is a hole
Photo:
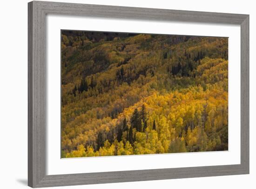
[[[46,14],[241,25],[241,164],[46,175]],[[28,186],[249,174],[249,15],[59,2],[28,3]]]

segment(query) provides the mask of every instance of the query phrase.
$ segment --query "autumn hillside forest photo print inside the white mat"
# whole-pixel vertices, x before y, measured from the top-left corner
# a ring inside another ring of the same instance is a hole
[[[228,150],[228,38],[61,30],[61,158]]]

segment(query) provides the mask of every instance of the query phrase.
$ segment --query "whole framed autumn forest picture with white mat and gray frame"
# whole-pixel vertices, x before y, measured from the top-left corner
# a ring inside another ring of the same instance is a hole
[[[28,185],[249,174],[249,15],[28,3]]]

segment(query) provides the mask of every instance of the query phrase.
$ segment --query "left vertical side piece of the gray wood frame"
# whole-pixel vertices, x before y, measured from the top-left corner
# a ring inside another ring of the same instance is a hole
[[[46,176],[45,16],[37,1],[28,3],[28,186]]]

